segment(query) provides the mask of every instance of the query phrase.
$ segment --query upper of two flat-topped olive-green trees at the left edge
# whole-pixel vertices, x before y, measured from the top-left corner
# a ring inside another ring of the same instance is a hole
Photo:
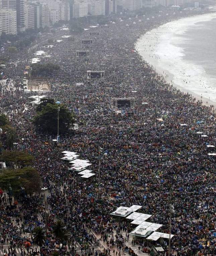
[[[24,166],[31,165],[34,157],[24,151],[3,150],[0,159],[8,163],[10,166],[13,166],[15,163],[17,163],[17,165],[22,168]]]

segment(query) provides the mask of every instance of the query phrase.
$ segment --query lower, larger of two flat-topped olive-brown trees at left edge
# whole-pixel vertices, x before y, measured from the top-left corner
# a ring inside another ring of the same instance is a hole
[[[0,188],[7,191],[10,188],[14,194],[21,192],[23,188],[27,194],[40,193],[41,179],[39,173],[31,167],[6,169],[0,173]]]

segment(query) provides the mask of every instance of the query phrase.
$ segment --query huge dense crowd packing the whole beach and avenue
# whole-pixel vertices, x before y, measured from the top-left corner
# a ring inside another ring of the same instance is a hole
[[[214,109],[166,83],[135,50],[146,31],[194,14],[119,14],[73,40],[59,29],[53,47],[45,35],[37,49],[5,52],[0,107],[15,136],[2,147],[13,149],[6,166],[14,183],[0,190],[0,255],[168,255],[170,233],[170,255],[215,255]],[[41,64],[60,67],[43,73],[51,85],[43,94],[56,111],[54,135],[34,126],[38,91],[23,93],[21,86],[36,50],[50,56]],[[63,105],[78,128],[64,134]],[[33,160],[20,164],[20,151]],[[25,192],[23,168],[38,171],[40,193]],[[132,205],[146,220],[128,218],[132,211],[124,207]],[[140,223],[143,236],[133,233]]]

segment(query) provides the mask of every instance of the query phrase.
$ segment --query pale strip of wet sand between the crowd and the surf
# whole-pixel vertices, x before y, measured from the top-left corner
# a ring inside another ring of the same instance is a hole
[[[204,16],[204,15],[207,15],[206,13],[205,14],[199,14],[199,15],[196,15],[197,17],[198,16]],[[196,17],[194,16],[194,17]],[[182,19],[188,19],[188,18],[191,18],[191,17],[187,17],[187,18],[182,18]],[[168,24],[168,23],[172,23],[172,22],[176,22],[178,19],[176,20],[173,20],[171,22],[166,22],[156,28],[153,28],[152,30],[149,30],[147,31],[147,33],[151,33],[152,31],[154,30],[157,30],[158,28],[160,28],[161,26],[165,25],[165,24]],[[200,22],[200,21],[198,21]],[[214,106],[214,108],[216,109],[216,102],[215,101],[212,101],[212,100],[209,100],[207,97],[204,97],[202,95],[199,95],[198,93],[196,93],[195,91],[191,90],[191,89],[187,89],[185,88],[184,86],[181,86],[175,82],[173,82],[174,80],[174,74],[171,73],[169,70],[167,70],[166,68],[163,68],[162,65],[159,63],[159,60],[158,58],[153,58],[152,55],[155,55],[154,54],[154,51],[156,50],[156,47],[155,48],[151,48],[151,49],[148,49],[148,50],[144,50],[143,48],[143,45],[142,43],[145,42],[144,41],[144,38],[146,37],[146,34],[143,34],[140,38],[137,39],[137,41],[135,42],[135,50],[137,51],[137,53],[139,54],[139,56],[142,58],[142,60],[148,65],[150,66],[158,75],[162,75],[164,80],[172,85],[174,88],[176,89],[179,89],[181,90],[182,92],[184,93],[189,93],[192,95],[193,98],[196,99],[196,102],[197,101],[202,101],[202,105],[206,106],[206,107],[210,107],[210,106]],[[156,44],[156,38],[154,40],[151,41],[151,44],[155,46]],[[143,49],[142,49],[143,48]],[[149,58],[149,56],[151,55],[151,59]],[[150,59],[150,60],[149,60]],[[173,62],[175,61],[175,59],[173,59]],[[170,63],[172,64],[172,63]],[[207,103],[208,102],[208,103]]]

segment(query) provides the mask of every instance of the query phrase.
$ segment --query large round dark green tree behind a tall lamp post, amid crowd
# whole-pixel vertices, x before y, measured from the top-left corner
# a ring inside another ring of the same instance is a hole
[[[68,131],[70,124],[74,123],[74,116],[64,105],[47,104],[34,116],[33,124],[42,132],[57,134],[59,111],[59,134]]]

